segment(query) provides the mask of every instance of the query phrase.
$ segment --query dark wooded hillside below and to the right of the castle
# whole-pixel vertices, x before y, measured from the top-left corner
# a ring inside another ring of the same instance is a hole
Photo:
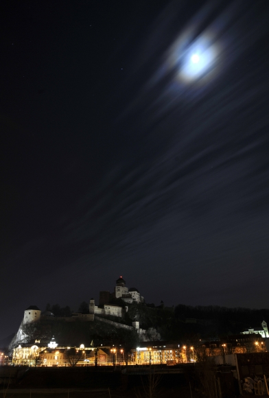
[[[117,305],[120,302],[117,301]],[[187,340],[195,342],[200,338],[215,339],[220,336],[237,334],[248,327],[259,327],[262,320],[269,318],[268,309],[246,309],[226,307],[191,307],[177,305],[172,311],[165,307],[152,307],[145,304],[132,304],[124,318],[106,316],[117,323],[132,325],[138,320],[146,330],[145,340]],[[126,340],[136,342],[136,331],[117,328],[103,323],[98,318],[94,322],[66,317],[41,317],[38,322],[23,326],[29,342],[41,340],[49,342],[52,336],[60,345],[85,344],[92,340],[102,340],[104,344],[121,344]]]

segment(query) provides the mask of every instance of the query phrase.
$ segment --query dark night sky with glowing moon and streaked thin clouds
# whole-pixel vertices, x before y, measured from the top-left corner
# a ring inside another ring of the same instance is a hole
[[[269,307],[269,1],[1,2],[0,338],[122,275]]]

